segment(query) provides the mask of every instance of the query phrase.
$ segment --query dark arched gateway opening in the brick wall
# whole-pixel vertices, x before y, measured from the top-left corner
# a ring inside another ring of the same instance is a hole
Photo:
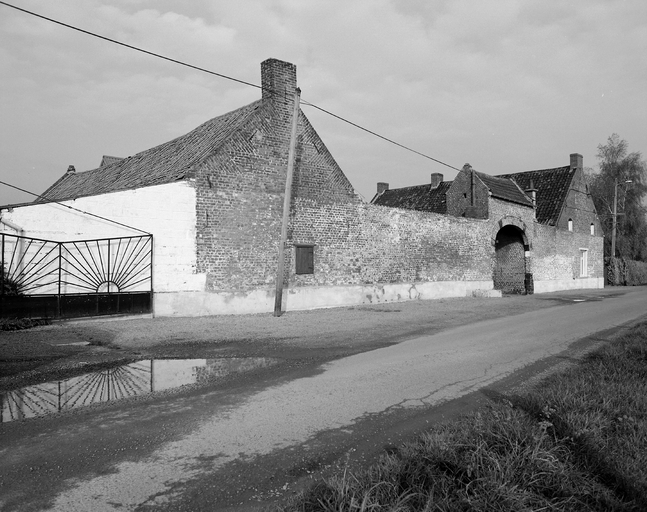
[[[503,293],[527,293],[526,248],[523,232],[516,226],[503,226],[496,235],[494,289]]]

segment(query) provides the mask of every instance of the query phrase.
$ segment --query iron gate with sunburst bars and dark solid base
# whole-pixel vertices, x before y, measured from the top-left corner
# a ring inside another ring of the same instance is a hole
[[[152,311],[152,235],[72,242],[0,238],[1,318]]]

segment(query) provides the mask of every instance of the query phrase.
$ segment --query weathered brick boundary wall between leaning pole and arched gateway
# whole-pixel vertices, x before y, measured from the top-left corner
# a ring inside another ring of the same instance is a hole
[[[291,286],[492,278],[486,221],[367,204],[297,200],[294,243],[314,243],[315,273]]]

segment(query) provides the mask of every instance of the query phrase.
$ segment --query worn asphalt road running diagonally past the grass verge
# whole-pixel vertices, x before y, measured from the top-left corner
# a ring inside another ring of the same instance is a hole
[[[253,510],[602,343],[647,289],[464,325],[316,369],[0,426],[2,510]]]

